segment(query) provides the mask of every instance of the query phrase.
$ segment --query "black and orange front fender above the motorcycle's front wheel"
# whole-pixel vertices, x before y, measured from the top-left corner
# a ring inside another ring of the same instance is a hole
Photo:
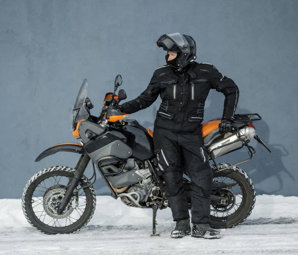
[[[69,151],[80,154],[85,153],[85,149],[80,143],[60,143],[46,149],[41,154],[39,154],[38,157],[35,159],[35,162],[38,162],[45,157],[53,155],[58,151]]]

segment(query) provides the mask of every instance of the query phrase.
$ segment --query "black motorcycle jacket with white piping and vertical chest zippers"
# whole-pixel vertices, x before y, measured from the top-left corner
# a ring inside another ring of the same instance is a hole
[[[238,86],[208,63],[193,62],[184,73],[175,72],[169,65],[161,66],[155,70],[141,95],[121,106],[123,112],[134,113],[149,107],[160,95],[162,102],[154,126],[195,134],[201,131],[210,89],[225,95],[222,120],[232,121],[239,99]]]

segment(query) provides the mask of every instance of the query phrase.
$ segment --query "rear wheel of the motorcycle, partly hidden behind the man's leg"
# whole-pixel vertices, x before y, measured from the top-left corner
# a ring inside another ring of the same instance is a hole
[[[230,164],[218,164],[219,169]],[[224,206],[211,205],[210,226],[213,228],[231,228],[242,223],[251,214],[256,201],[254,184],[247,173],[237,166],[226,170],[217,170],[215,165],[213,170],[213,182],[235,184],[232,187],[212,189],[212,194],[229,198],[229,204]]]

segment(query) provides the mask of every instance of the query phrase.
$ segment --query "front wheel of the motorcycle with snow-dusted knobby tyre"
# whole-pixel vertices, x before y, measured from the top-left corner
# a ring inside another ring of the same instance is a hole
[[[96,195],[89,179],[82,176],[62,214],[57,209],[74,177],[69,167],[44,168],[27,182],[22,209],[28,222],[45,234],[70,234],[82,229],[92,218]],[[80,187],[90,185],[80,189]]]

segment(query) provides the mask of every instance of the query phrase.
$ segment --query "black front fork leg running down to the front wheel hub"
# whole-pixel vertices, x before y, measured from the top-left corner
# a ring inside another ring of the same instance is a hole
[[[77,162],[77,165],[75,166],[75,169],[76,169],[75,176],[70,182],[70,184],[68,185],[65,196],[61,204],[59,205],[59,208],[57,210],[58,214],[62,214],[63,211],[65,210],[65,207],[69,203],[72,193],[75,190],[75,187],[77,187],[77,184],[79,183],[80,179],[82,178],[89,161],[90,161],[90,157],[87,153],[85,153],[80,157],[79,161]]]

